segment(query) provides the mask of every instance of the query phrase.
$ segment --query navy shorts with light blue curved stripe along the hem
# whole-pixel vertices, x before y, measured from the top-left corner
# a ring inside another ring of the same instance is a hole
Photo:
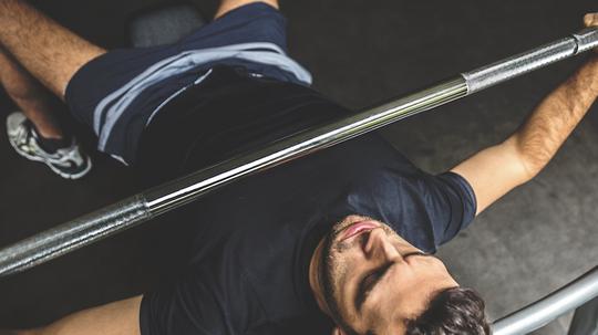
[[[110,51],[79,70],[65,100],[99,137],[97,148],[130,164],[143,129],[161,107],[209,75],[215,65],[309,85],[311,76],[287,55],[286,19],[256,2],[230,11],[178,43]]]

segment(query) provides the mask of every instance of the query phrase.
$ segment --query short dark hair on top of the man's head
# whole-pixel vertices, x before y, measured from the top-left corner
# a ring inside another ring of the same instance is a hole
[[[484,301],[472,289],[441,291],[427,310],[406,323],[406,335],[489,335]]]

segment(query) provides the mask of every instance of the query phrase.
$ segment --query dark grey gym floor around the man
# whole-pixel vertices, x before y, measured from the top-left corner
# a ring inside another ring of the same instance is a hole
[[[159,0],[35,1],[106,48],[126,45],[132,13]],[[196,0],[210,15],[216,1]],[[292,55],[315,87],[359,111],[458,72],[575,32],[595,0],[281,1]],[[584,56],[511,81],[382,130],[425,170],[448,169],[508,136]],[[59,102],[58,108],[68,113]],[[14,107],[0,93],[0,115]],[[598,260],[598,106],[553,163],[504,197],[440,251],[464,285],[487,301],[491,318],[550,293]],[[72,124],[87,147],[87,129]],[[131,172],[94,154],[79,181],[22,159],[0,132],[0,245],[73,219],[138,190]],[[138,294],[183,262],[185,227],[147,223],[22,274],[0,279],[0,326],[30,327]],[[534,334],[564,334],[570,315]]]

